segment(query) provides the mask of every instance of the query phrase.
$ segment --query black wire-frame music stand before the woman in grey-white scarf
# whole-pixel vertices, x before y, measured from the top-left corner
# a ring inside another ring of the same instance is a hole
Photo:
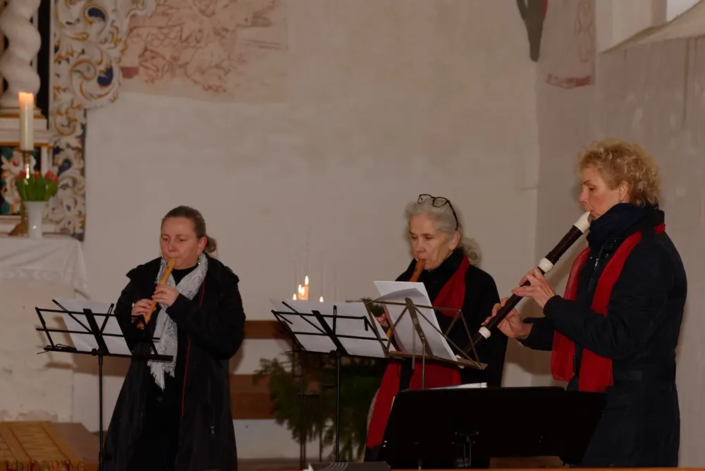
[[[154,344],[155,340],[158,340],[157,338],[148,338],[147,336],[142,336],[142,338],[136,338],[134,339],[137,342],[146,342],[150,345],[150,352],[153,353],[147,353],[147,354],[141,354],[141,353],[132,353],[129,350],[129,347],[127,347],[127,344],[125,343],[125,348],[126,352],[130,353],[117,353],[117,352],[111,352],[110,348],[108,348],[108,343],[111,343],[115,345],[113,340],[120,339],[122,342],[125,342],[126,336],[123,333],[116,333],[119,329],[119,324],[117,324],[117,318],[115,314],[113,314],[113,304],[110,304],[110,307],[108,308],[108,312],[106,313],[96,313],[93,312],[90,308],[86,307],[83,308],[82,311],[70,311],[66,309],[64,306],[62,306],[57,300],[52,300],[54,301],[54,304],[59,306],[61,309],[40,309],[40,308],[35,308],[37,311],[37,316],[39,317],[39,321],[42,324],[42,327],[37,327],[36,330],[38,332],[44,332],[47,336],[47,339],[49,340],[49,345],[46,345],[44,347],[44,352],[58,352],[58,353],[76,353],[76,354],[81,354],[81,355],[92,355],[92,356],[97,356],[98,357],[98,420],[99,420],[99,451],[98,451],[98,470],[102,471],[103,470],[103,358],[105,357],[117,357],[117,358],[137,358],[140,360],[157,360],[157,361],[171,361],[172,356],[170,355],[159,355],[157,353],[156,346]],[[80,301],[77,300],[72,300],[72,302],[78,302]],[[90,301],[87,301],[87,303],[90,305]],[[68,315],[73,321],[76,322],[77,328],[82,329],[82,330],[70,330],[70,329],[53,329],[47,327],[46,320],[44,319],[44,316],[42,315],[43,313],[50,313],[50,314],[61,314],[61,315]],[[100,318],[103,318],[102,321],[100,321]],[[115,323],[110,323],[110,319],[114,319]],[[113,332],[106,332],[106,328],[109,326],[109,323],[112,324],[110,327],[112,328]],[[117,328],[115,328],[117,326]],[[77,338],[74,337],[74,335],[81,335],[82,341],[80,342],[81,344],[87,344],[87,347],[85,350],[79,350],[76,347],[71,347],[69,345],[62,345],[59,343],[54,342],[54,339],[51,337],[51,333],[57,333],[57,334],[69,334],[72,337],[72,340],[74,343],[77,343]],[[86,342],[88,340],[88,342]],[[108,341],[106,341],[108,340]],[[119,343],[122,343],[119,342]]]

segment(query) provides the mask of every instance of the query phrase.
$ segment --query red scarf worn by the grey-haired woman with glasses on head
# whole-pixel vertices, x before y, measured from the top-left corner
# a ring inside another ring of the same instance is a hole
[[[433,302],[433,306],[447,309],[462,309],[465,301],[465,273],[468,271],[470,262],[467,257],[463,257],[460,267],[453,276],[443,285],[440,293]],[[453,317],[456,313],[446,313],[444,315]],[[414,372],[411,376],[409,389],[421,389],[421,360],[416,361]],[[374,448],[382,443],[384,430],[387,428],[387,420],[392,411],[394,396],[399,392],[399,381],[401,379],[401,364],[399,362],[389,362],[387,370],[382,378],[382,385],[377,393],[370,429],[367,433],[367,447]],[[454,366],[446,366],[438,363],[426,362],[425,388],[440,388],[445,386],[456,386],[460,384],[460,372]]]

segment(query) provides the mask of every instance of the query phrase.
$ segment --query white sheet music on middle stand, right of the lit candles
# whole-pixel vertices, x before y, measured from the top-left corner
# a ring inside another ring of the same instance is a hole
[[[274,305],[274,310],[279,312],[298,312],[300,314],[311,314],[313,310],[321,313],[323,316],[333,316],[334,308],[337,308],[338,316],[355,316],[365,317],[369,320],[369,315],[365,304],[361,302],[353,303],[335,303],[335,302],[316,302],[316,301],[282,301],[270,299]],[[286,303],[286,305],[284,304]],[[291,306],[293,311],[287,307]],[[301,342],[304,349],[312,352],[328,353],[335,351],[335,344],[327,335],[305,335],[306,333],[321,333],[325,332],[318,320],[313,316],[297,316],[287,315],[284,317],[284,322],[291,321],[290,327],[293,332],[303,332],[304,335],[296,335],[296,338]],[[377,328],[380,337],[386,344],[384,329],[373,317],[374,326]],[[384,358],[385,353],[382,345],[379,343],[374,331],[368,326],[365,329],[365,321],[362,319],[341,319],[325,317],[326,322],[331,329],[336,333],[340,343],[345,348],[349,355]],[[312,325],[313,324],[313,325]],[[341,337],[342,336],[342,337]],[[348,337],[363,337],[363,339],[354,339]],[[368,340],[369,339],[369,340]],[[389,345],[390,351],[394,351],[394,346]]]

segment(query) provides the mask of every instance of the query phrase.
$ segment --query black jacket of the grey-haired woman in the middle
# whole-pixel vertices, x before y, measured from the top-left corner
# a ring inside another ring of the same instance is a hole
[[[424,270],[421,273],[418,281],[426,287],[431,302],[435,302],[443,286],[460,266],[463,257],[465,257],[463,249],[458,248],[438,268]],[[415,265],[415,261],[412,261],[406,271],[397,278],[397,281],[411,279]],[[492,307],[498,302],[499,293],[492,276],[480,268],[470,265],[465,273],[465,300],[461,308],[470,335],[474,335],[485,319],[492,315]],[[436,311],[436,319],[443,332],[446,331],[452,322],[450,317],[438,311]],[[448,337],[453,343],[463,349],[469,343],[468,335],[459,321],[456,321]],[[500,387],[506,352],[507,337],[501,332],[496,332],[477,352],[480,361],[487,364],[487,368],[482,371],[463,368],[460,370],[462,383],[487,383],[488,387]],[[402,389],[406,389],[411,379],[411,361],[404,362],[401,379]]]

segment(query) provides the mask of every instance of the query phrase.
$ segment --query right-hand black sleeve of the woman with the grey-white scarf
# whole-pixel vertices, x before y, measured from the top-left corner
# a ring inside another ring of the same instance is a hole
[[[166,310],[179,329],[184,329],[194,342],[218,359],[235,356],[245,336],[245,311],[237,283],[235,278],[215,308],[199,307],[179,294]]]

